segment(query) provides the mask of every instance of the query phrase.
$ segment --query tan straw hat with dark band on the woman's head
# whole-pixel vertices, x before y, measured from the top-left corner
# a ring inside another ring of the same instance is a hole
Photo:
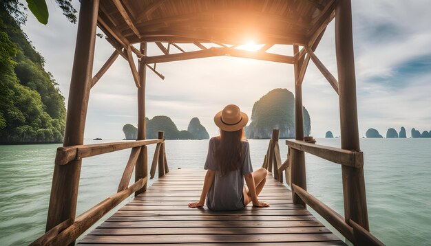
[[[214,116],[215,124],[223,131],[238,131],[249,122],[249,116],[240,107],[229,104]]]

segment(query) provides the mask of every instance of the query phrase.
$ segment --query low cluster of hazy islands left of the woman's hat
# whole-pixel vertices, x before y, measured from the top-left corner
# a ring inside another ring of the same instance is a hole
[[[171,118],[165,115],[154,116],[151,120],[145,118],[147,122],[147,139],[158,137],[158,132],[165,133],[165,139],[209,139],[207,129],[200,124],[198,118],[191,119],[187,131],[178,131],[176,124]],[[123,126],[125,139],[136,139],[138,137],[138,128],[132,124]]]

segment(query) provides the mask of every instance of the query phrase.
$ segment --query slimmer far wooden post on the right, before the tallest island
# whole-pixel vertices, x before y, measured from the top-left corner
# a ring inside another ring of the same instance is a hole
[[[297,45],[293,45],[293,53],[299,52]],[[302,82],[299,81],[299,71],[304,63],[304,57],[295,63],[295,139],[304,140],[304,116],[302,113]],[[292,149],[291,183],[307,190],[305,153]],[[306,206],[304,201],[292,189],[293,203]]]

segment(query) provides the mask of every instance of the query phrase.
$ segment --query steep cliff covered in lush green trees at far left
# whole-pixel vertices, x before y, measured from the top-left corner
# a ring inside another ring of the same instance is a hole
[[[43,57],[0,5],[0,142],[61,142],[64,98]]]

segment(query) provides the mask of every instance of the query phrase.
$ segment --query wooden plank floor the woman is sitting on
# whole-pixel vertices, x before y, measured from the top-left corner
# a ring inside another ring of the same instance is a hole
[[[200,197],[204,174],[199,169],[172,170],[78,244],[346,245],[302,205],[293,204],[291,191],[270,175],[259,196],[271,203],[269,208],[188,208],[187,203]]]

